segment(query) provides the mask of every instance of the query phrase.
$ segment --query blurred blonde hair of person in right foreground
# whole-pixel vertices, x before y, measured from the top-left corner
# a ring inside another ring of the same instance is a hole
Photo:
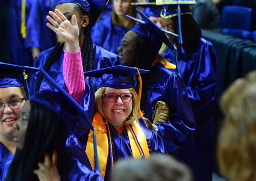
[[[228,180],[256,179],[256,71],[236,80],[221,98],[220,171]]]

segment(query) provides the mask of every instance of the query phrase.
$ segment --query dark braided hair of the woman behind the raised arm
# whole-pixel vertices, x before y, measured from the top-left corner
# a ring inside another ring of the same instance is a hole
[[[73,3],[73,5],[78,10],[81,16],[89,16],[89,13],[86,11],[83,5],[78,3]],[[60,43],[58,43],[55,46],[54,50],[51,52],[50,56],[48,57],[48,59],[46,60],[43,66],[44,71],[46,72],[49,71],[53,62],[55,62],[56,59],[59,57],[61,51],[63,50],[63,47],[64,47],[64,44],[60,44]],[[82,54],[84,72],[91,71],[93,69],[94,53],[93,53],[90,23],[84,29],[84,43],[83,43],[81,54]],[[39,91],[42,80],[43,80],[43,75],[39,73],[37,83],[36,83],[36,92]],[[90,86],[92,87],[92,78],[90,78]]]

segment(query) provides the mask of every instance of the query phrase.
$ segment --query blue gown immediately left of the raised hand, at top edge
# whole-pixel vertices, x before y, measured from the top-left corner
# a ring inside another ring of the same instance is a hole
[[[57,44],[55,32],[46,26],[46,23],[49,23],[46,16],[49,15],[49,11],[52,10],[52,0],[38,0],[38,3],[40,9],[40,40],[38,48],[40,48],[41,51],[45,51]]]

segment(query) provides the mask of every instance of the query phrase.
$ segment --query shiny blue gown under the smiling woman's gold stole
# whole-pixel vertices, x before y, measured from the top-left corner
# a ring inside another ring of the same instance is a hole
[[[150,154],[155,152],[156,154],[163,154],[165,153],[165,147],[161,137],[154,131],[147,129],[144,124],[139,123],[139,126],[142,128],[143,133],[145,134],[147,145],[149,147]],[[113,161],[114,163],[121,158],[128,159],[132,156],[132,149],[129,142],[129,136],[127,131],[124,130],[122,135],[119,135],[117,130],[110,124],[110,133],[112,138],[112,149],[113,149]],[[68,148],[69,152],[73,157],[76,157],[81,163],[83,163],[87,168],[91,169],[91,164],[89,159],[84,157],[86,143],[87,143],[87,136],[89,134],[89,129],[86,127],[86,124],[83,122],[79,122],[76,127],[79,127],[80,133],[75,131],[75,133],[69,137],[68,141],[66,142],[66,147]],[[79,134],[80,137],[76,137],[75,135]],[[100,159],[100,156],[99,156]],[[106,165],[106,173],[104,180],[111,180],[111,170],[112,167],[110,165],[110,158],[107,158],[107,165]]]

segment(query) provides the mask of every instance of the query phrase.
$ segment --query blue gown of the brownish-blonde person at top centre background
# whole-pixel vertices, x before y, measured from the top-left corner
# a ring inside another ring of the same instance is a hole
[[[114,26],[111,23],[111,16],[97,22],[91,30],[92,41],[106,50],[118,54],[118,47],[126,32],[130,29]]]

